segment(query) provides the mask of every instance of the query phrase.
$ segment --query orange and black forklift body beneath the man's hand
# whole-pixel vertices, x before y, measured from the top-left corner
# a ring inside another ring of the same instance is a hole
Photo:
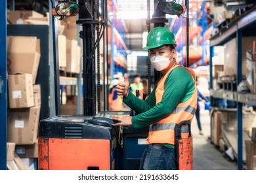
[[[117,128],[110,118],[56,116],[41,120],[39,170],[114,169]]]

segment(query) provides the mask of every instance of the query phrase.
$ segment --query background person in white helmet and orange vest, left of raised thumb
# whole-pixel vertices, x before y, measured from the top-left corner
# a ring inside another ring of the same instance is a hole
[[[117,95],[116,86],[119,80],[115,78],[110,82],[110,94],[108,95],[108,103],[110,111],[120,111],[123,110],[123,97]]]

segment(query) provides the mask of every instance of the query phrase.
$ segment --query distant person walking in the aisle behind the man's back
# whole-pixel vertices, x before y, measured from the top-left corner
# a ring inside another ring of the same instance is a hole
[[[196,78],[196,86],[199,85],[199,80],[198,78]],[[205,103],[205,105],[207,105],[207,103],[209,103],[209,100],[203,96],[203,94],[198,90],[198,88],[196,88],[197,92],[198,92],[198,101],[196,103],[197,107],[196,107],[196,121],[198,122],[198,129],[199,129],[199,134],[203,135],[203,130],[202,130],[202,125],[201,125],[201,121],[200,121],[200,101],[203,101],[203,103]]]

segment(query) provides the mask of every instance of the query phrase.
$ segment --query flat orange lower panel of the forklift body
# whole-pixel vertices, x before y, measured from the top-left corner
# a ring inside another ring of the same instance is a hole
[[[39,138],[40,170],[110,170],[110,140]]]

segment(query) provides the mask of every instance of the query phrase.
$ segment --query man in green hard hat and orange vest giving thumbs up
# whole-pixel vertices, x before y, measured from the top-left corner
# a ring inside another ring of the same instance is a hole
[[[192,69],[177,65],[176,46],[175,36],[165,27],[155,27],[148,33],[146,49],[152,66],[162,76],[145,101],[129,92],[127,74],[116,86],[117,95],[123,96],[123,102],[138,114],[113,116],[114,125],[149,126],[149,145],[140,160],[140,169],[177,169],[175,125],[184,120],[192,122],[196,112],[196,76]],[[184,130],[187,133],[188,126]]]

